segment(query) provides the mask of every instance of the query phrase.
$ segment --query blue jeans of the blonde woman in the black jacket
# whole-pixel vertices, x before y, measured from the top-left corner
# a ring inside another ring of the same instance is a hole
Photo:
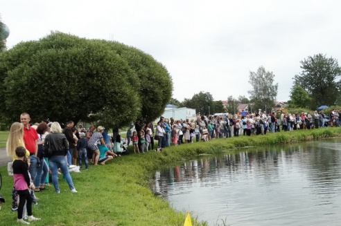
[[[55,187],[55,191],[60,191],[58,186],[58,168],[62,170],[62,173],[67,180],[67,184],[69,185],[70,190],[75,189],[73,187],[73,182],[71,179],[71,175],[69,173],[69,169],[67,167],[67,160],[65,160],[65,156],[52,156],[49,158],[49,165],[52,173],[52,182]]]

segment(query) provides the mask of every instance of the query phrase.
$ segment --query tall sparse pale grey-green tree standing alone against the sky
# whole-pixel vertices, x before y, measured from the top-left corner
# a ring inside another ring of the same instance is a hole
[[[256,72],[250,71],[252,90],[248,91],[254,109],[271,109],[277,97],[278,84],[274,84],[274,73],[260,66]]]

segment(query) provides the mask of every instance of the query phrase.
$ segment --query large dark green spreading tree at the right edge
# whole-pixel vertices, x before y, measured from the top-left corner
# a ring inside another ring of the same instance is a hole
[[[338,79],[341,68],[338,60],[320,53],[301,61],[301,68],[303,71],[295,75],[294,80],[313,98],[311,108],[335,104],[340,93]]]

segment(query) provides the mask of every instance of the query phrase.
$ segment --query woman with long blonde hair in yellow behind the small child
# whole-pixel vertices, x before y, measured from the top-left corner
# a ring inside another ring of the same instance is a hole
[[[20,122],[15,122],[10,126],[10,134],[8,135],[8,140],[6,144],[6,152],[8,157],[12,157],[13,161],[17,159],[15,154],[15,149],[17,147],[25,147],[24,142],[24,125]],[[26,150],[25,156],[30,156],[30,152]],[[27,163],[30,164],[30,158],[27,158]],[[18,194],[17,189],[13,186],[12,189],[12,211],[18,209]]]

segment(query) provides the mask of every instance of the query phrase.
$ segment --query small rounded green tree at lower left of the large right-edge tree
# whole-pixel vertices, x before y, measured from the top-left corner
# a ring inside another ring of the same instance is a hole
[[[292,86],[290,91],[290,107],[293,108],[308,108],[311,106],[311,95],[299,86],[298,84],[295,84]]]

